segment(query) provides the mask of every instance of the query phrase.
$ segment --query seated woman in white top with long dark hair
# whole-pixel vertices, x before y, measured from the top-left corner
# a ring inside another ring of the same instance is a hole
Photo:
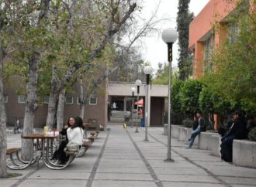
[[[82,141],[83,141],[83,134],[84,134],[84,126],[83,126],[83,121],[81,119],[81,117],[70,117],[70,124],[71,127],[67,128],[67,140],[68,141],[64,141],[64,143],[61,144],[60,148],[57,150],[57,162],[55,162],[55,164],[58,165],[64,165],[65,162],[67,162],[68,160],[68,156],[65,154],[64,149],[67,146],[68,142],[73,142],[76,143],[78,145],[82,145]],[[74,121],[74,123],[73,123]]]

